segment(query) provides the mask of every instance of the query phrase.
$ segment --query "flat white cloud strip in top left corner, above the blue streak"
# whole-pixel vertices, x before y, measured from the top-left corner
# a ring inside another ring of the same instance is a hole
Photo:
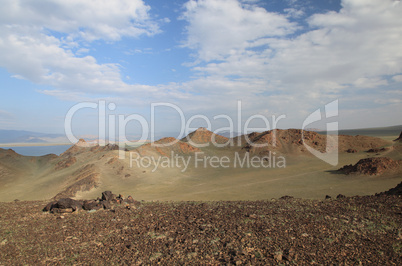
[[[88,41],[119,40],[159,32],[149,9],[142,0],[5,0],[0,23],[48,29]]]

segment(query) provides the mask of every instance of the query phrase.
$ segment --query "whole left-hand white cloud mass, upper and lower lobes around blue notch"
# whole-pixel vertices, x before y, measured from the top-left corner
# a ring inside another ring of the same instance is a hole
[[[150,19],[149,9],[141,0],[3,1],[0,66],[14,77],[50,85],[57,91],[135,90],[121,80],[118,64],[79,57],[89,51],[79,43],[156,34],[159,28]]]

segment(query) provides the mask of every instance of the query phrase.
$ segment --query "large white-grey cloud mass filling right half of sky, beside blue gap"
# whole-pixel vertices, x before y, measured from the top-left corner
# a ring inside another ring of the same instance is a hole
[[[311,16],[309,28],[291,38],[286,34],[297,26],[284,16],[244,8],[236,1],[222,1],[224,7],[218,2],[186,5],[186,14],[191,14],[185,16],[190,24],[187,45],[197,49],[198,60],[206,61],[194,70],[206,75],[258,78],[267,92],[325,98],[346,89],[386,85],[384,76],[402,72],[399,2],[344,0],[340,12]],[[242,18],[258,15],[258,20],[246,19],[244,29],[238,25]],[[264,45],[248,49],[257,42]]]

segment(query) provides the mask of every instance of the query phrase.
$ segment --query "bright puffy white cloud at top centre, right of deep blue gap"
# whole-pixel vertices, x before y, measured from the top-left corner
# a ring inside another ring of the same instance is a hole
[[[184,45],[196,49],[204,61],[225,59],[252,48],[259,39],[285,36],[296,29],[284,15],[236,0],[191,0],[185,8],[182,18],[189,25]]]

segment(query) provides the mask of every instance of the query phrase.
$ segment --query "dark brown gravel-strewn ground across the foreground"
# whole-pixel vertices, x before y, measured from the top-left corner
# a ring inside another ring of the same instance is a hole
[[[402,197],[143,202],[43,212],[0,203],[0,265],[402,265]]]

